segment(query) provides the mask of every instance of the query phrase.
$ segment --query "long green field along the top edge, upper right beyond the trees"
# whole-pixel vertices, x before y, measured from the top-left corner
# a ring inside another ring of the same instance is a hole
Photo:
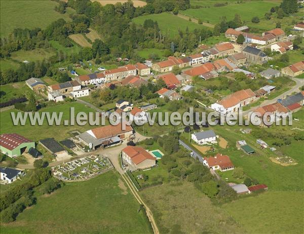
[[[228,4],[223,7],[214,7],[210,4],[210,8],[187,9],[180,11],[180,13],[197,19],[201,18],[203,21],[209,21],[212,24],[218,23],[222,16],[225,16],[227,21],[230,21],[235,14],[239,14],[243,21],[251,22],[252,17],[262,18],[272,7],[279,5],[280,3],[278,2],[243,1],[242,4]]]

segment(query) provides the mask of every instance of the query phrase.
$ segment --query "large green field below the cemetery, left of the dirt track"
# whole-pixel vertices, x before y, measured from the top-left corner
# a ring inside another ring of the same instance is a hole
[[[151,233],[147,218],[119,174],[66,183],[23,211],[2,233]]]

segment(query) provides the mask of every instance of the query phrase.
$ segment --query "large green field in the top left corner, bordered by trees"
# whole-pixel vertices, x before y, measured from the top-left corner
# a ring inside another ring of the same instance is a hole
[[[75,12],[67,8],[65,14],[54,10],[55,1],[1,1],[1,37],[7,37],[15,28],[46,28],[51,22],[63,18],[70,21],[69,14]]]

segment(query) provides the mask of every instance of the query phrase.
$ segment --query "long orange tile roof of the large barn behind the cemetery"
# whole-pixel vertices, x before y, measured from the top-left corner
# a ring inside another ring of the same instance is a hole
[[[108,125],[91,130],[97,139],[103,139],[107,137],[117,136],[126,132],[133,131],[133,128],[126,125],[126,130],[122,129],[122,123],[118,125]]]

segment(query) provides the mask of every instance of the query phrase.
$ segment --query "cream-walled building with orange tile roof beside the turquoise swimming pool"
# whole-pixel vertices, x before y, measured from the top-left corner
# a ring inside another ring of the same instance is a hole
[[[122,150],[122,158],[134,170],[150,168],[156,165],[156,158],[139,146],[128,145]]]

